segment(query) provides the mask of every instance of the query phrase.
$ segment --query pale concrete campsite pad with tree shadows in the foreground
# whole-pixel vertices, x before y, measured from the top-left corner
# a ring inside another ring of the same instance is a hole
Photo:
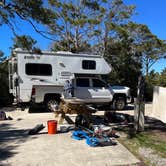
[[[52,113],[12,112],[13,121],[0,122],[0,165],[101,166],[139,163],[123,145],[89,147],[85,140],[71,138],[71,132],[48,135],[47,127],[37,135],[26,130],[46,125]],[[17,120],[20,118],[21,120]]]

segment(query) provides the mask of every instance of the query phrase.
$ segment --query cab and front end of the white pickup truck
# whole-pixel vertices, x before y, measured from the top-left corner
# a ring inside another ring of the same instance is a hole
[[[97,77],[77,77],[72,80],[73,97],[93,105],[112,105],[117,110],[131,101],[130,88],[109,86]]]

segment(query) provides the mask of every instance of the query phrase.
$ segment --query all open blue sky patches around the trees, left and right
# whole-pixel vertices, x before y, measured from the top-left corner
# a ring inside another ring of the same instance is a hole
[[[125,0],[125,3],[136,5],[136,12],[138,14],[133,17],[135,22],[148,25],[152,33],[157,35],[160,39],[166,40],[165,0]],[[42,50],[49,49],[51,41],[36,33],[29,24],[19,22],[18,33],[20,35],[31,35],[37,40],[38,47],[40,47]],[[9,56],[10,47],[13,44],[11,39],[13,38],[13,34],[7,26],[3,25],[0,27],[0,36],[0,50],[2,50],[6,56]],[[152,67],[152,69],[161,71],[164,67],[166,67],[166,60],[160,60]]]

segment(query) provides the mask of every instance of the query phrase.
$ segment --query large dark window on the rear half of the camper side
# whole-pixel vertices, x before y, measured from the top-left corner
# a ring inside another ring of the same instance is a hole
[[[27,75],[51,76],[52,66],[50,64],[27,63],[25,72]]]

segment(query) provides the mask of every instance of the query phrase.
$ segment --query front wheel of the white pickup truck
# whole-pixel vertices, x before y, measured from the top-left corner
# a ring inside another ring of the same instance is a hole
[[[123,110],[126,106],[126,99],[124,97],[117,97],[113,101],[113,108],[115,110]]]

